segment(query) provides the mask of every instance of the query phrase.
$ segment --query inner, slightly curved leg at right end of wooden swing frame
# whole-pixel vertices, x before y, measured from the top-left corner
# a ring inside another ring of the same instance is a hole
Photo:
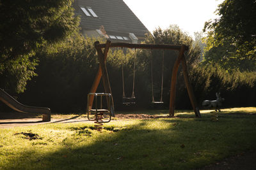
[[[174,108],[175,108],[175,93],[176,93],[176,81],[177,81],[177,73],[180,65],[180,60],[182,59],[182,55],[184,55],[184,51],[186,49],[185,45],[182,45],[180,48],[179,56],[175,60],[175,64],[172,70],[172,81],[171,81],[171,93],[170,93],[170,106],[169,106],[169,114],[170,117],[174,117]]]

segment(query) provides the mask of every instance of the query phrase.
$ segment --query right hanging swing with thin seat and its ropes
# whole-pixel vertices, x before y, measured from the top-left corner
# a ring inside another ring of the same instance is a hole
[[[161,73],[161,97],[160,101],[155,101],[154,99],[154,83],[153,83],[153,59],[151,59],[151,87],[152,87],[152,103],[154,104],[163,104],[163,83],[164,83],[164,50],[163,50],[163,59],[162,59],[162,73]]]

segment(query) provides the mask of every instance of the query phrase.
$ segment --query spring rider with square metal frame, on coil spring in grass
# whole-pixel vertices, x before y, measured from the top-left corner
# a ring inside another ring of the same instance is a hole
[[[87,105],[87,117],[88,120],[95,121],[95,127],[97,131],[101,131],[104,123],[111,121],[111,94],[109,93],[89,93],[88,101],[90,96],[94,97],[94,108]],[[106,99],[108,106],[103,106],[103,99]],[[100,98],[100,101],[99,101]],[[87,103],[89,104],[89,103]],[[90,109],[89,109],[90,108]]]

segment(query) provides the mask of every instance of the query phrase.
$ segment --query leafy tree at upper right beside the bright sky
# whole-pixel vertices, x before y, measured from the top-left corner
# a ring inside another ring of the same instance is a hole
[[[220,18],[205,22],[204,31],[208,32],[205,63],[215,60],[228,69],[255,71],[256,1],[225,0],[216,13]],[[223,52],[214,58],[213,52],[218,50]]]

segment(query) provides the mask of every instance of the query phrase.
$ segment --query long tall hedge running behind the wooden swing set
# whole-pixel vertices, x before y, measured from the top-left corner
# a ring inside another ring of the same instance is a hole
[[[179,40],[183,39],[182,41]],[[104,43],[104,39],[97,39]],[[36,53],[40,58],[37,77],[28,83],[28,90],[20,94],[21,103],[46,106],[53,112],[84,112],[86,111],[87,94],[92,87],[95,74],[99,67],[97,53],[93,46],[95,38],[84,38],[78,32],[55,45],[44,46]],[[255,106],[255,73],[241,71],[225,71],[218,64],[201,66],[198,64],[200,46],[193,39],[172,26],[167,30],[157,29],[154,36],[147,36],[145,43],[186,44],[189,66],[189,78],[199,103],[204,99],[215,99],[215,93],[221,92],[226,101],[223,106]],[[150,108],[151,94],[151,62],[153,64],[153,83],[155,100],[161,94],[161,69],[164,53],[163,108],[168,108],[170,98],[170,80],[172,68],[178,55],[168,50],[140,50],[111,48],[106,66],[109,82],[113,92],[116,110]],[[135,58],[134,58],[135,57]],[[135,69],[135,106],[122,104],[122,67],[124,69],[125,95],[132,94],[133,67]],[[191,109],[188,93],[184,85],[182,72],[177,80],[176,108]],[[100,83],[97,92],[104,92]],[[237,97],[234,97],[236,95]],[[40,97],[35,97],[40,96]],[[247,96],[247,97],[246,97]],[[250,97],[248,97],[250,96]]]

